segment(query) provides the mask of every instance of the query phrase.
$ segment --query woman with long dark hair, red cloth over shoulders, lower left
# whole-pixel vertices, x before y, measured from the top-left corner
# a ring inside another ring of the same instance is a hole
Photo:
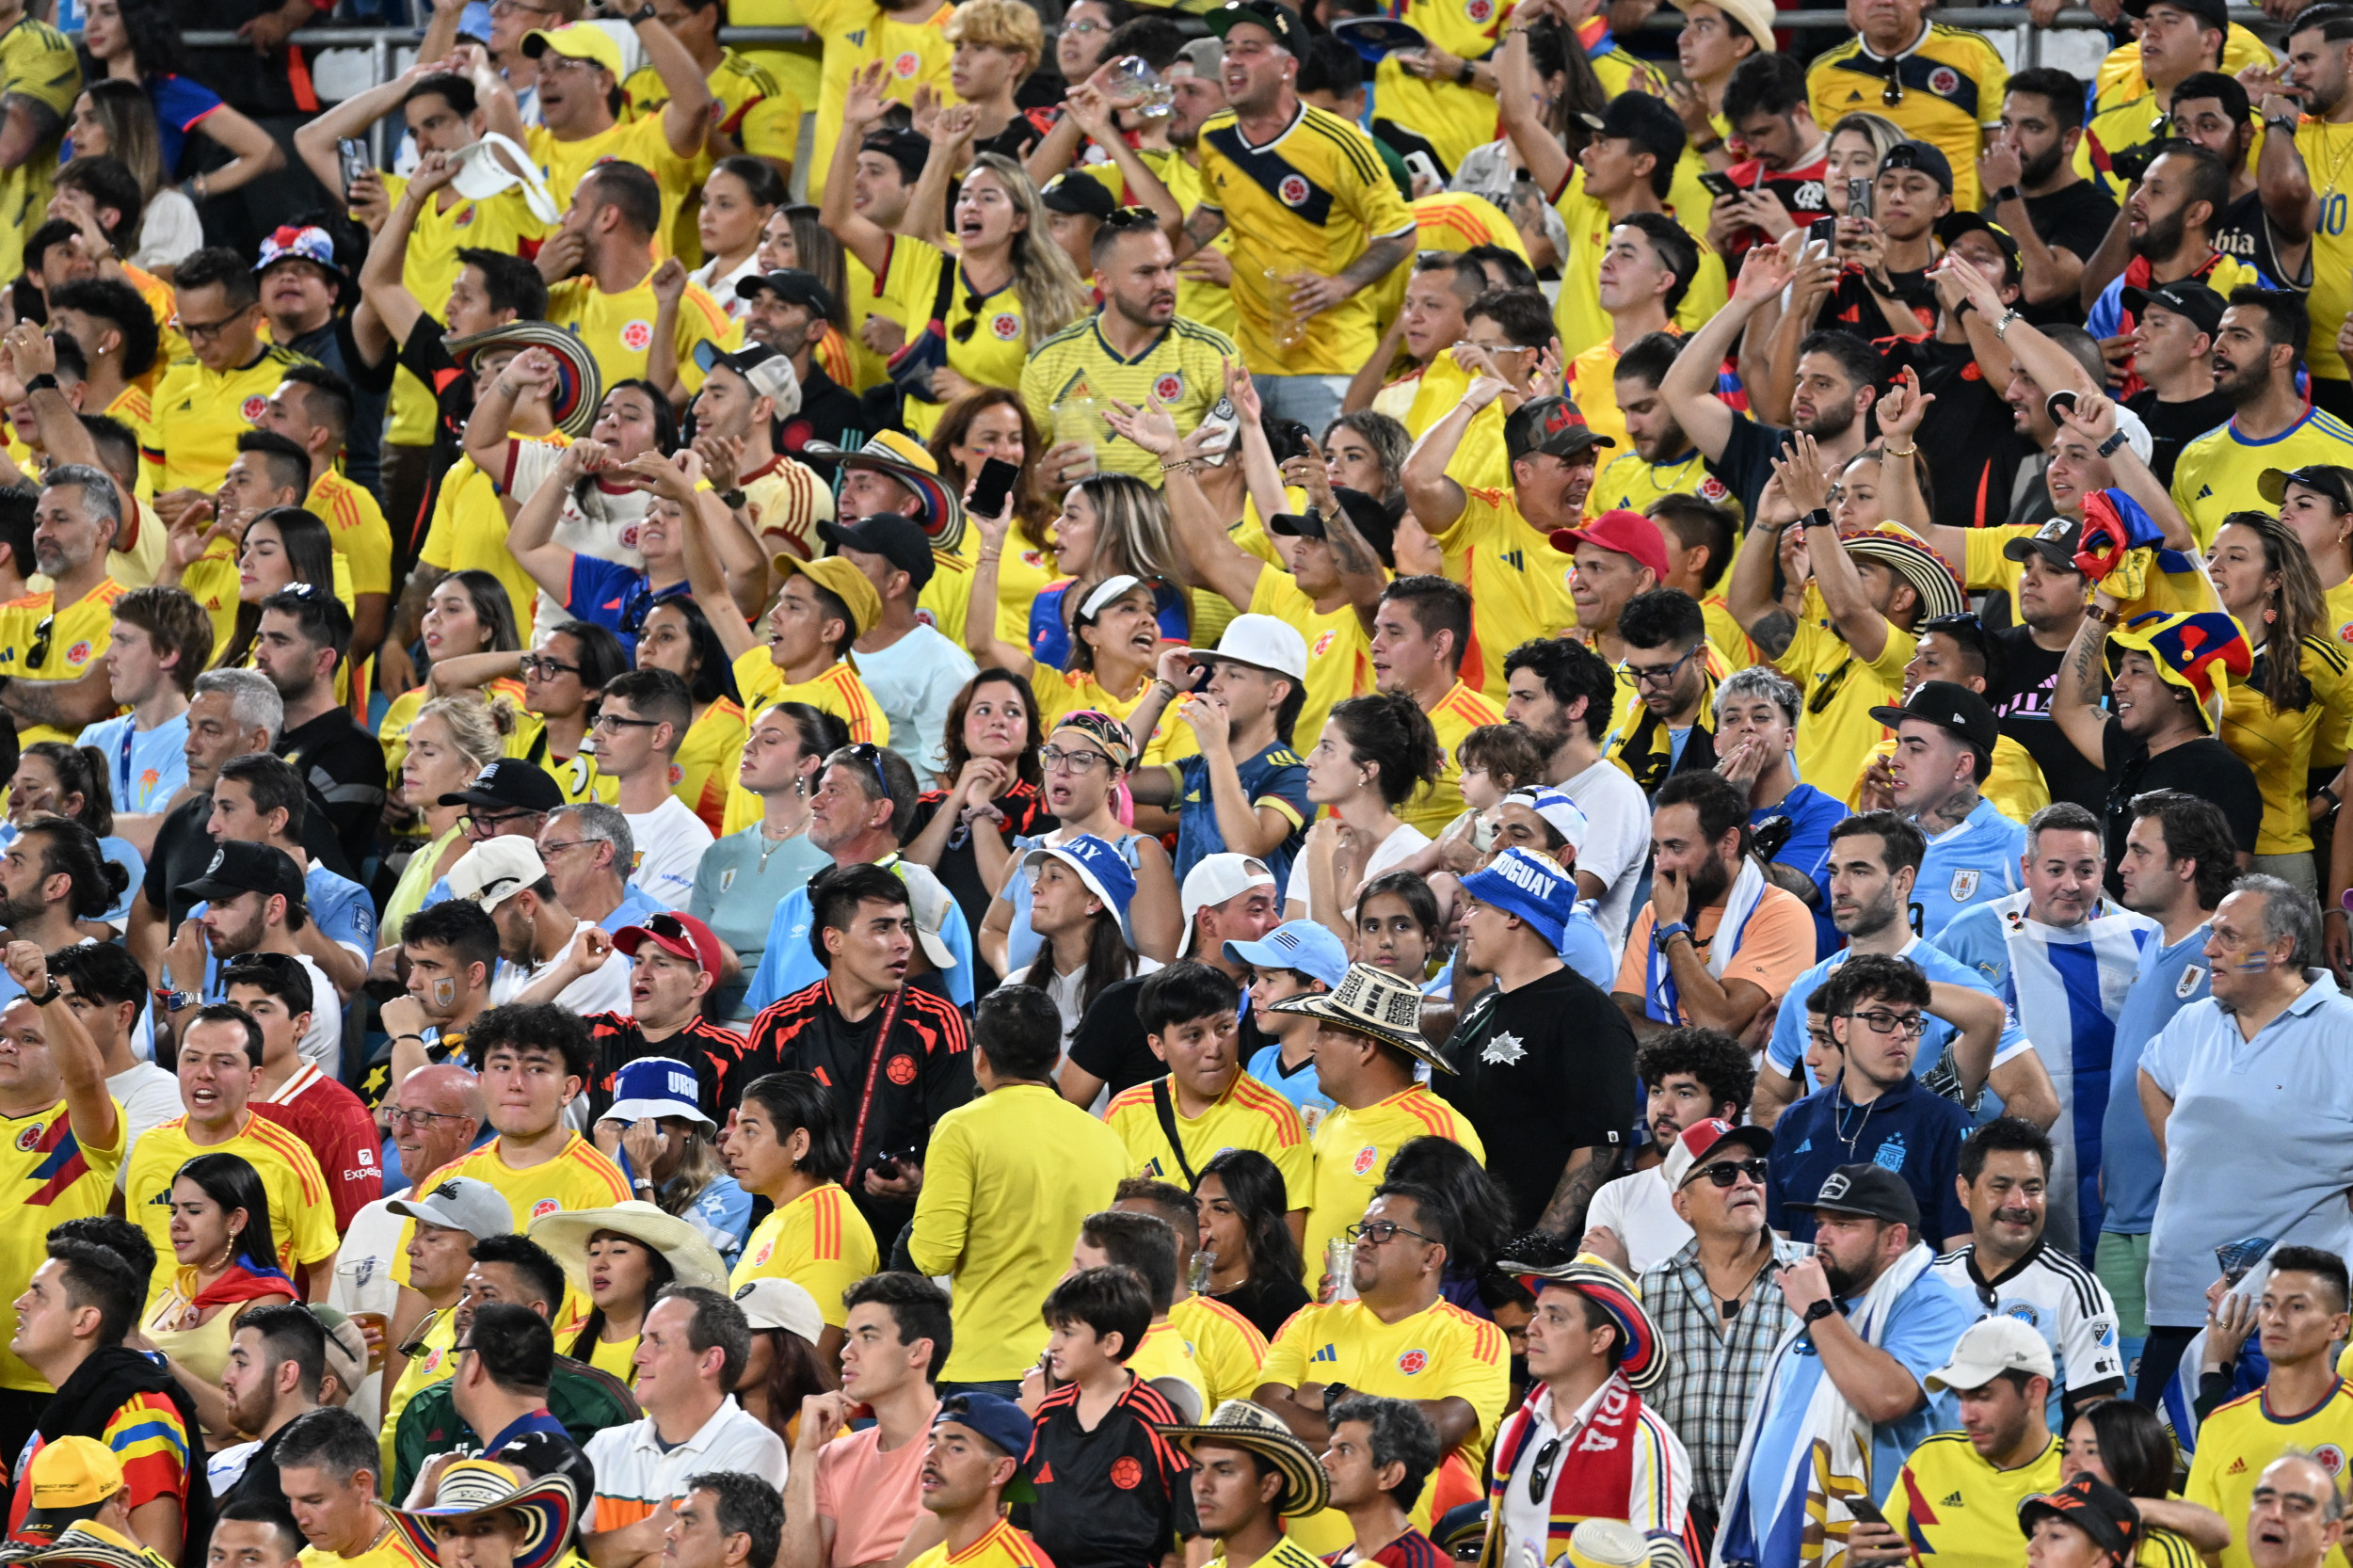
[[[141,1333],[165,1354],[207,1431],[228,1431],[221,1373],[238,1318],[264,1302],[296,1302],[278,1267],[271,1196],[235,1154],[198,1154],[172,1177],[172,1283],[151,1302]]]

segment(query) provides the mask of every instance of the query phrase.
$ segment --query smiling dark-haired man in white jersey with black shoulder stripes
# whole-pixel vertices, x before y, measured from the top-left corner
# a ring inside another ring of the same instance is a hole
[[[1986,1311],[2017,1318],[2052,1358],[2049,1417],[2066,1429],[2087,1406],[2125,1394],[2115,1302],[2080,1260],[2045,1245],[2054,1151],[2042,1128],[1998,1116],[1960,1147],[1960,1201],[1969,1245],[1937,1260],[1937,1274]]]

